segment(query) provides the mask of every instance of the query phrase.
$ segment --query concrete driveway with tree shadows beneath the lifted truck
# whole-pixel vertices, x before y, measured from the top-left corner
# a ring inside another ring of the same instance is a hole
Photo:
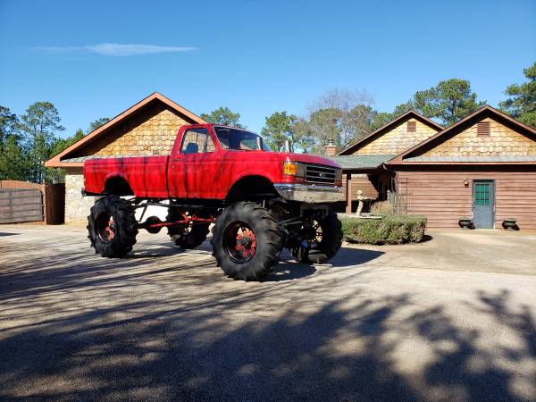
[[[0,226],[2,400],[535,400],[536,235],[289,255],[232,281],[207,242]]]

